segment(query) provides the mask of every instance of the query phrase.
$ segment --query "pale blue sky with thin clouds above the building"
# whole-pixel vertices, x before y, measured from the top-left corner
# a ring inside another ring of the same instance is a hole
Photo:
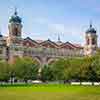
[[[100,0],[0,0],[0,30],[8,34],[9,17],[18,8],[23,20],[23,37],[84,43],[92,20],[100,33]],[[100,40],[100,39],[98,39]]]

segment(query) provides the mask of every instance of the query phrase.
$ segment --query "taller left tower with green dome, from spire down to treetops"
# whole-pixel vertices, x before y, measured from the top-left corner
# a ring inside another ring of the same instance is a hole
[[[14,60],[15,57],[22,57],[22,19],[18,16],[17,9],[9,19],[9,34],[7,46],[9,50],[9,60]]]

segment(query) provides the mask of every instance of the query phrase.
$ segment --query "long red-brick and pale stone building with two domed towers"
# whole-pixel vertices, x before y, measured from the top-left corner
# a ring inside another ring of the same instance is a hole
[[[29,56],[43,65],[59,58],[81,57],[96,53],[97,35],[92,25],[86,31],[84,47],[70,42],[63,43],[60,37],[57,42],[50,39],[46,41],[32,40],[30,37],[23,39],[22,27],[22,19],[15,10],[9,19],[9,35],[7,37],[0,35],[0,59],[13,62],[16,57]]]

